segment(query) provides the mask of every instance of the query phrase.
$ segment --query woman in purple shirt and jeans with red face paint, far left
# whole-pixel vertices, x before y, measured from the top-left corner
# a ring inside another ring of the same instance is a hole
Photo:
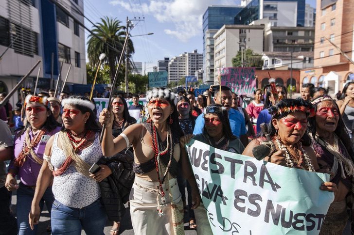
[[[24,109],[26,125],[15,135],[15,158],[11,160],[5,186],[7,190],[17,190],[17,223],[19,235],[35,235],[37,226],[31,231],[28,223],[28,213],[35,195],[39,170],[43,164],[43,153],[48,139],[60,130],[52,111],[49,109],[48,97],[27,95]],[[15,176],[20,179],[16,185]],[[52,187],[44,190],[38,198],[38,214],[44,202],[51,213],[54,201]]]

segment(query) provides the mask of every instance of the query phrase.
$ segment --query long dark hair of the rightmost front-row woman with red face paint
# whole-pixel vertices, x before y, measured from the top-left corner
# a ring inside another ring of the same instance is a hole
[[[319,96],[319,97],[324,97],[326,95],[323,95],[323,96]],[[319,98],[318,97],[318,98]],[[326,100],[326,101],[332,101],[335,105],[336,105],[336,108],[339,112],[339,107],[338,105],[336,104],[336,102],[334,100]],[[319,102],[321,103],[321,102]],[[318,108],[318,105],[319,103],[315,104],[314,105],[314,108],[315,108],[315,112],[317,112],[317,108]],[[325,140],[323,140],[321,137],[319,136],[316,136],[316,133],[317,133],[317,129],[316,129],[316,116],[314,117],[310,117],[308,119],[308,126],[307,126],[307,130],[309,133],[311,133],[311,136],[312,138],[317,141],[317,139],[321,139],[323,142],[326,143]],[[339,120],[338,120],[338,124],[337,124],[337,128],[336,130],[334,131],[334,133],[337,135],[337,137],[339,138],[339,140],[342,141],[344,147],[347,149],[348,153],[349,153],[349,156],[352,157],[352,160],[354,158],[354,150],[353,150],[353,147],[352,147],[352,142],[350,141],[350,138],[349,138],[349,135],[348,135],[348,132],[347,132],[347,129],[344,125],[344,122],[343,122],[343,119],[342,119],[342,116],[339,115]],[[318,141],[317,141],[318,142]],[[326,148],[326,146],[324,146]]]

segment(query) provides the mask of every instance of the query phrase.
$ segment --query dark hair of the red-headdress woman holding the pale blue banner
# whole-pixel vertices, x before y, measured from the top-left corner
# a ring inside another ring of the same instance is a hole
[[[276,106],[274,106],[274,107],[272,106],[268,110],[269,110],[269,113],[272,114],[271,120],[273,120],[274,118],[277,120],[280,120],[283,117],[286,117],[289,113],[292,113],[293,111],[280,113],[280,112],[278,112],[278,110],[282,110],[284,108],[290,108],[290,107],[300,107],[300,106],[303,106],[306,109],[312,108],[312,105],[309,102],[298,98],[298,99],[283,99]],[[307,113],[307,115],[308,115],[308,113]],[[277,133],[277,130],[275,129],[275,127],[271,121],[268,124],[268,132],[269,132],[270,136],[272,136],[272,137],[275,136],[275,134]],[[265,137],[265,134],[263,132],[261,132],[260,136]],[[300,141],[304,146],[311,145],[311,138],[307,134],[307,132],[305,132],[305,134],[301,137]]]

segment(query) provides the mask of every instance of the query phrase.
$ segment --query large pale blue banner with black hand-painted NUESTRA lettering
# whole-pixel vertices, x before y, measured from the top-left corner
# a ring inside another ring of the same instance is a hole
[[[318,235],[334,193],[329,175],[287,168],[215,149],[186,145],[215,235]]]

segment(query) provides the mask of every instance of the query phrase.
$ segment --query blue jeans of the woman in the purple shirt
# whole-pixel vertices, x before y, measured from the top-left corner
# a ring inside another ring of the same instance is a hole
[[[35,235],[38,225],[35,225],[35,229],[31,230],[28,223],[28,215],[31,211],[31,204],[35,195],[34,188],[28,188],[23,184],[19,184],[17,189],[17,226],[18,235]],[[40,210],[42,211],[44,203],[47,205],[49,214],[51,214],[51,208],[54,201],[52,187],[48,187],[43,194],[42,199],[39,202]]]

